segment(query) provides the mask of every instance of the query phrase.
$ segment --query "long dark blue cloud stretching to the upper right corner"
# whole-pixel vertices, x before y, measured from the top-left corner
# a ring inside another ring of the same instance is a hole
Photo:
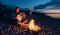
[[[49,6],[54,6],[54,7],[60,7],[60,0],[52,0],[46,4],[40,4],[40,5],[37,5],[37,6],[34,6],[34,9],[45,9],[46,7],[49,7]]]

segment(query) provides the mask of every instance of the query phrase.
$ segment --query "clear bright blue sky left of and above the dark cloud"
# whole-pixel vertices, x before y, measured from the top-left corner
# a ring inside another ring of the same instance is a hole
[[[0,0],[5,5],[14,5],[21,8],[33,9],[34,6],[45,4],[51,0]]]

